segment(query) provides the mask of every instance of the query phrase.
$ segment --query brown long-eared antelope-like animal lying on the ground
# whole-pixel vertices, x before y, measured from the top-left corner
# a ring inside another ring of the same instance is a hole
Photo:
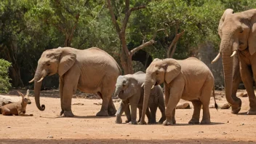
[[[21,92],[17,91],[20,96],[22,97],[22,100],[20,100],[17,103],[9,103],[7,105],[4,105],[1,107],[1,113],[4,116],[33,116],[33,114],[25,114],[25,108],[27,104],[31,104],[31,100],[29,100],[29,89],[27,90],[27,94],[23,95]]]

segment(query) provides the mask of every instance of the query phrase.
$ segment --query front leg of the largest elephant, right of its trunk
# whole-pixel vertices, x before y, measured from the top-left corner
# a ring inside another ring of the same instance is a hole
[[[252,71],[254,76],[256,76],[256,68],[253,67]],[[251,67],[246,65],[244,61],[240,61],[240,72],[241,78],[244,82],[244,86],[247,89],[248,97],[249,97],[249,111],[247,114],[256,114],[256,97],[253,89],[253,79],[252,79],[252,71]]]

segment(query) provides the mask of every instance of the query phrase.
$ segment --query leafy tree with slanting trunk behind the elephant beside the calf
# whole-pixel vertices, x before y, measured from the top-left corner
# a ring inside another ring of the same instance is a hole
[[[156,39],[155,47],[162,47],[165,57],[179,59],[188,57],[190,51],[209,40],[206,38],[210,33],[216,36],[216,23],[223,9],[219,1],[163,0],[152,1],[148,7],[151,23],[158,23],[156,28],[165,29]]]

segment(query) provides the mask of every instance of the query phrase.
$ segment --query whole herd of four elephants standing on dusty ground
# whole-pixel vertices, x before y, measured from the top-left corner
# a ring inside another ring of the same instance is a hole
[[[220,51],[212,63],[222,56],[225,97],[231,105],[231,112],[239,113],[241,109],[241,100],[236,97],[236,90],[242,80],[249,95],[247,114],[256,114],[252,79],[256,77],[256,9],[239,13],[226,9],[220,19],[218,33],[221,38]],[[96,116],[116,114],[118,124],[122,123],[122,113],[126,114],[126,122],[130,124],[146,124],[145,115],[149,124],[175,124],[175,107],[180,99],[193,103],[189,124],[199,124],[201,107],[203,116],[200,123],[211,122],[209,100],[212,94],[215,98],[215,79],[207,65],[195,57],[185,60],[156,58],[146,73],[139,71],[121,76],[121,68],[116,60],[102,49],[48,49],[42,53],[34,78],[30,81],[35,81],[36,106],[41,111],[45,109],[39,97],[42,80],[55,73],[60,78],[60,116],[74,116],[71,99],[79,89],[81,92],[97,93],[103,104]],[[164,93],[159,84],[164,84]],[[118,111],[113,105],[112,95],[121,99]],[[138,121],[137,108],[140,116]],[[156,121],[157,108],[161,111],[159,121]]]

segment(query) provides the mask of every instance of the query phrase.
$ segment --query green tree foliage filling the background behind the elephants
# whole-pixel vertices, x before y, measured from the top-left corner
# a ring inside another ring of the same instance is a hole
[[[111,3],[118,23],[122,23],[125,2]],[[256,1],[130,0],[129,7],[141,5],[146,5],[146,9],[133,11],[129,17],[126,31],[129,50],[151,40],[157,30],[164,28],[165,31],[157,33],[156,43],[143,50],[153,58],[165,58],[178,26],[178,32],[185,33],[177,42],[174,58],[184,59],[204,43],[219,49],[217,26],[225,9],[241,12],[256,8]],[[71,47],[100,47],[118,62],[121,53],[107,4],[100,0],[1,0],[0,31],[0,58],[12,63],[9,76],[15,87],[28,85],[41,53],[65,46],[67,38]],[[141,63],[134,65],[136,71],[143,70]],[[57,83],[55,79],[55,86]]]

